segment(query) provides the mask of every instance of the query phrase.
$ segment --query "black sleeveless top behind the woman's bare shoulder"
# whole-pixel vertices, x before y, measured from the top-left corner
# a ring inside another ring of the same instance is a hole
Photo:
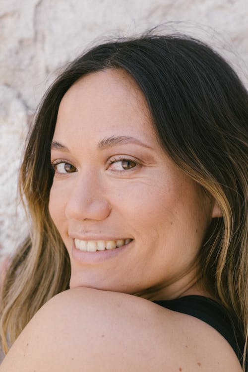
[[[185,296],[175,300],[153,301],[164,308],[192,315],[215,328],[232,346],[242,365],[245,341],[228,310],[203,296]]]

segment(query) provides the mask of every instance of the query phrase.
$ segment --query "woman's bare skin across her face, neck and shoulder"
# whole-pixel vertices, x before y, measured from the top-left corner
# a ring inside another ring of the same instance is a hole
[[[98,148],[113,135],[148,147]],[[214,328],[147,301],[208,295],[197,284],[196,257],[220,211],[161,149],[131,78],[106,70],[76,82],[62,99],[54,141],[52,164],[67,165],[55,166],[49,209],[70,256],[71,289],[36,313],[0,372],[241,372]],[[95,261],[91,252],[75,258],[74,238],[133,241]]]

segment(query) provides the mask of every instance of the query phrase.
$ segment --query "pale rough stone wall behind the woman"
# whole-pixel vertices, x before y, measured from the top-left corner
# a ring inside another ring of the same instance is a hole
[[[164,22],[165,32],[209,42],[247,85],[247,0],[0,0],[2,256],[14,251],[26,230],[16,197],[20,158],[28,125],[58,69],[91,41],[138,34]]]

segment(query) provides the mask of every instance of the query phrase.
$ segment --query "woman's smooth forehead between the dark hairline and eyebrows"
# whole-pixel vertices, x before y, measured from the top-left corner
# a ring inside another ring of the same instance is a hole
[[[66,136],[71,130],[87,136],[155,137],[143,94],[121,69],[90,73],[69,88],[60,104],[55,135]]]

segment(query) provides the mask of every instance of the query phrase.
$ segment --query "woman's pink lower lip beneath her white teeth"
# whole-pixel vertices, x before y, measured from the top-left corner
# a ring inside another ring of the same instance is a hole
[[[95,262],[102,262],[107,259],[111,259],[116,257],[118,254],[121,254],[124,252],[124,250],[127,250],[130,248],[133,240],[119,248],[114,249],[105,249],[105,250],[97,250],[95,252],[87,252],[85,250],[80,250],[75,247],[75,242],[73,240],[72,243],[72,249],[71,249],[71,255],[72,258],[75,261],[81,262],[81,263],[95,263]]]

